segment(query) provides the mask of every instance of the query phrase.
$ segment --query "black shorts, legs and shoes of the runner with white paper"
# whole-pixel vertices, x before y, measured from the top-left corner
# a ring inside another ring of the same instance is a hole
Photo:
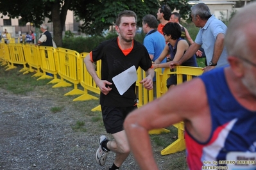
[[[109,141],[104,135],[103,138],[101,138],[102,143],[99,144],[99,149],[96,152],[96,160],[98,157],[97,162],[101,166],[105,164],[107,154],[104,154],[108,153],[108,151],[114,151],[116,153],[114,164],[112,167],[110,167],[110,170],[119,169],[119,167],[123,164],[124,160],[128,157],[130,153],[130,148],[128,145],[125,131],[123,129],[123,123],[126,116],[134,109],[137,109],[137,106],[106,107],[101,105],[105,128],[107,132],[109,134],[112,134],[112,136],[114,137],[113,141]],[[103,150],[103,152],[101,152],[101,155],[103,157],[98,154],[100,152],[99,150]]]

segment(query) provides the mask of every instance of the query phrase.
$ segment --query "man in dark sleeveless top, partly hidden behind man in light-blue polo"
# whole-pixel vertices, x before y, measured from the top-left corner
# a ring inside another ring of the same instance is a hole
[[[180,24],[180,13],[178,13],[178,12],[171,13],[170,22],[176,22],[176,23]],[[189,31],[187,31],[187,28],[183,27],[182,24],[180,24],[180,27],[182,28],[182,36],[180,36],[180,38],[182,38],[182,39],[186,38],[186,40],[190,44],[194,43],[191,36],[189,35]],[[198,50],[196,52],[196,56],[198,56],[198,57],[201,57],[202,54],[203,54],[203,52],[201,52],[201,50]]]

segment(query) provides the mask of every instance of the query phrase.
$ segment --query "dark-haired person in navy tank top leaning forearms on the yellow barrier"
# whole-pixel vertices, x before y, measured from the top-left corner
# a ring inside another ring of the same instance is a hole
[[[160,63],[163,59],[166,58],[167,54],[170,54],[171,61],[178,61],[182,58],[183,54],[187,49],[189,49],[189,43],[186,40],[180,38],[182,35],[182,29],[180,25],[176,22],[169,22],[163,27],[164,38],[167,42],[166,47],[160,54],[159,58],[155,60],[153,68],[169,68],[169,62]],[[187,61],[182,63],[183,66],[198,66],[196,62],[196,56],[192,54],[192,57]],[[187,76],[183,75],[183,81],[187,80]],[[177,84],[176,75],[171,75],[167,79],[167,88]]]

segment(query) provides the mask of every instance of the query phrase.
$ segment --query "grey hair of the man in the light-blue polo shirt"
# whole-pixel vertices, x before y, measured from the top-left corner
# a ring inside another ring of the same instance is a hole
[[[198,3],[191,7],[191,15],[196,19],[196,15],[202,20],[209,19],[212,14],[210,13],[209,7],[204,3]]]

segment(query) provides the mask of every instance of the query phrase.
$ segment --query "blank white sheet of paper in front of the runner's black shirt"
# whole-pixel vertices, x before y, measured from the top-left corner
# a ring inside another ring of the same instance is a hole
[[[112,78],[112,81],[114,82],[119,94],[123,95],[125,91],[127,91],[128,88],[130,88],[130,86],[137,81],[137,72],[135,66],[131,66],[124,72],[115,75],[115,77]]]

